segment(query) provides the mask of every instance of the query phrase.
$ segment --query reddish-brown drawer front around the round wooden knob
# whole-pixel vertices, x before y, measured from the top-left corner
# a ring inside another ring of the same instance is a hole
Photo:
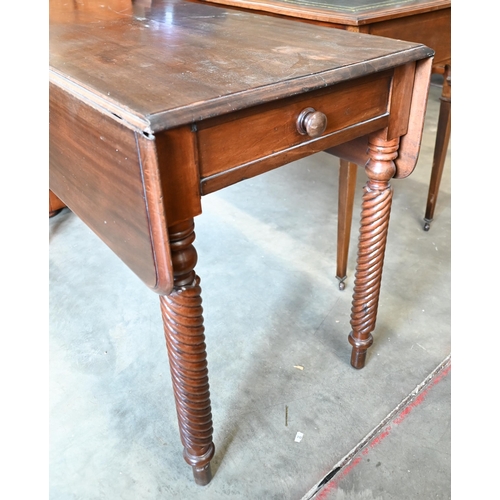
[[[341,130],[387,114],[392,72],[341,83],[283,100],[280,106],[255,106],[198,125],[201,179],[249,164],[290,148],[324,142]],[[326,115],[325,131],[302,135],[297,119],[306,108]]]

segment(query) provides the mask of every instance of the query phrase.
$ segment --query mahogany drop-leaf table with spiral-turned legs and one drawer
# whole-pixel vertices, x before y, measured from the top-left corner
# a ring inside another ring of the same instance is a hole
[[[299,158],[368,150],[349,342],[375,328],[391,178],[415,167],[433,51],[187,0],[50,0],[50,179],[160,298],[184,459],[211,480],[194,218]]]

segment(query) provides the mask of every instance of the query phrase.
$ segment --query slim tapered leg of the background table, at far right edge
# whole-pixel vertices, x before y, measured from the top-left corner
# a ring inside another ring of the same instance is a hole
[[[427,195],[427,206],[424,217],[424,230],[428,231],[434,217],[439,185],[443,176],[443,167],[448,151],[451,133],[451,67],[446,66],[441,92],[441,105],[439,108],[439,119],[436,134],[436,145],[434,147],[434,159],[432,162],[431,180],[429,193]]]

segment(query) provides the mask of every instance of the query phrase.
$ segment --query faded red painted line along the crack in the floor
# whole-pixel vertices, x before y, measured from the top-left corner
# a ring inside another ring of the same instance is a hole
[[[427,397],[427,394],[429,391],[441,380],[448,375],[448,373],[451,370],[451,364],[447,366],[444,370],[439,372],[439,374],[432,379],[432,381],[429,383],[429,385],[411,402],[406,406],[401,413],[399,413],[396,417],[393,418],[392,423],[395,425],[401,424],[404,420],[406,420],[406,417],[417,407],[420,406],[424,401],[425,398]],[[392,431],[392,427],[390,424],[388,424],[380,434],[375,436],[366,446],[363,448],[359,453],[361,453],[363,456],[366,456],[370,453],[370,450],[378,446],[387,436]],[[327,483],[325,487],[318,493],[317,495],[317,500],[326,500],[327,495],[333,490],[336,489],[339,485],[339,481],[341,479],[344,479],[351,471],[356,467],[362,460],[363,457],[360,455],[355,456],[353,460],[345,466],[336,476],[332,481]]]

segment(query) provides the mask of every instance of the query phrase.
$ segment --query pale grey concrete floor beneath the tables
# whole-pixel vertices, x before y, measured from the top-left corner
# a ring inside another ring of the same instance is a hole
[[[336,158],[204,198],[197,272],[216,446],[206,487],[182,459],[158,297],[69,210],[50,219],[51,500],[451,498],[451,147],[422,229],[440,90],[417,169],[393,181],[363,370],[347,342],[362,169],[343,292]]]

